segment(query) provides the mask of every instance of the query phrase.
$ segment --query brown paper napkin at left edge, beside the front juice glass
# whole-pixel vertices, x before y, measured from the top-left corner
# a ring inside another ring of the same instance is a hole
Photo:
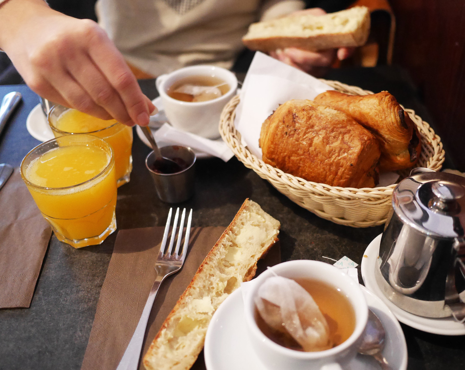
[[[51,235],[15,168],[0,190],[0,308],[30,306]]]

